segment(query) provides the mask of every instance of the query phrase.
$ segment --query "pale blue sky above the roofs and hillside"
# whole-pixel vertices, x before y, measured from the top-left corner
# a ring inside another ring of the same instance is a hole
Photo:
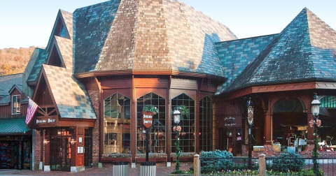
[[[59,9],[76,8],[104,0],[1,0],[0,49],[45,47]],[[180,0],[227,26],[238,38],[276,34],[307,7],[336,30],[335,0]]]

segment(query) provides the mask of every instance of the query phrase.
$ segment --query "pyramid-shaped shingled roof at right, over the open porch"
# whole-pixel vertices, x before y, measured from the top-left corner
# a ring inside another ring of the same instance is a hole
[[[225,91],[309,80],[336,81],[336,31],[304,8]]]

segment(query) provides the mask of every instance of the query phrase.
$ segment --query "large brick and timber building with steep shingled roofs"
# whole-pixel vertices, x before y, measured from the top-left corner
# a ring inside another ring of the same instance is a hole
[[[144,105],[158,108],[151,160],[174,161],[172,112],[181,105],[190,110],[180,122],[183,155],[227,149],[245,156],[245,97],[253,103],[255,146],[274,155],[273,147],[286,152],[283,146],[307,139],[300,149],[309,155],[314,92],[325,99],[321,119],[330,125],[321,137],[335,134],[335,36],[307,8],[280,34],[244,39],[179,1],[59,10],[47,47],[35,50],[24,73],[25,92],[43,109],[28,125],[41,151],[35,167],[134,167],[146,150]],[[288,128],[293,133],[281,136]]]

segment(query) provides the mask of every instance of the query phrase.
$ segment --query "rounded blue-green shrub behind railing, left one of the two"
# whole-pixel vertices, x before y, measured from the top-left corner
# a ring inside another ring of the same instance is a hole
[[[211,152],[201,153],[201,173],[217,173],[222,170],[232,170],[233,155],[227,151],[221,151],[216,149]]]

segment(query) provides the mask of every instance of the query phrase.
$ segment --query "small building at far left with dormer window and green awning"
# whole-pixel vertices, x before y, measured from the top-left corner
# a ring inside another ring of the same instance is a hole
[[[30,169],[32,136],[22,73],[0,76],[0,168]]]

